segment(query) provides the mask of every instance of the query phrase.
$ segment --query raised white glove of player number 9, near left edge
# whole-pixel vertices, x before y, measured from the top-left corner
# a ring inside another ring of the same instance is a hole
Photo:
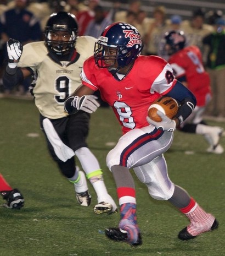
[[[9,67],[15,68],[22,54],[22,44],[15,39],[9,39],[7,42],[7,52],[9,57]]]

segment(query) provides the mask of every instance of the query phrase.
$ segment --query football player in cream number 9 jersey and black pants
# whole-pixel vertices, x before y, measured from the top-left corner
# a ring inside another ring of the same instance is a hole
[[[78,203],[91,204],[87,177],[97,193],[94,213],[109,214],[116,211],[116,204],[107,192],[99,162],[86,143],[89,113],[80,111],[69,116],[64,111],[64,101],[81,84],[83,62],[94,49],[93,37],[77,37],[77,34],[76,17],[58,12],[47,21],[44,41],[28,43],[22,49],[19,41],[10,39],[7,42],[9,63],[3,83],[10,89],[29,75],[36,76],[32,94],[40,111],[40,125],[50,154],[61,173],[74,184]],[[76,166],[75,156],[86,177]]]

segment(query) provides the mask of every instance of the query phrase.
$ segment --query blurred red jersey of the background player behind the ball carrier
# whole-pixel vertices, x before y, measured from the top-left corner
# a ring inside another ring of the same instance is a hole
[[[168,62],[176,78],[186,77],[188,89],[197,100],[197,106],[206,105],[206,95],[211,95],[210,76],[203,67],[201,52],[197,46],[188,46],[174,53]]]

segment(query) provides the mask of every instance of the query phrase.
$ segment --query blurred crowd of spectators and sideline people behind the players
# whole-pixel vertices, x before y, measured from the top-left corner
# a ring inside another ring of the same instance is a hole
[[[187,1],[185,1],[187,2]],[[5,91],[2,73],[7,58],[6,42],[10,37],[27,42],[43,40],[44,26],[49,15],[64,10],[76,15],[79,35],[98,38],[101,32],[116,21],[134,25],[144,42],[143,55],[164,55],[161,47],[165,32],[182,30],[187,45],[196,45],[203,54],[205,68],[210,74],[213,101],[210,115],[225,117],[217,108],[217,86],[225,86],[225,4],[195,2],[195,6],[185,6],[181,1],[150,0],[0,0],[0,92],[29,95],[30,80],[18,86],[16,91]],[[177,6],[181,3],[181,6]],[[211,40],[213,38],[213,40]],[[220,103],[220,102],[219,102]]]

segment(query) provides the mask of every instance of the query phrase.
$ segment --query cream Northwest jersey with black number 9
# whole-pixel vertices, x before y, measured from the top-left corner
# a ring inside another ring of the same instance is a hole
[[[65,99],[81,85],[80,73],[83,62],[94,52],[97,39],[90,36],[77,37],[78,55],[72,62],[56,62],[48,56],[44,41],[24,46],[18,67],[32,68],[37,73],[33,94],[35,105],[44,117],[56,119],[65,117]]]

